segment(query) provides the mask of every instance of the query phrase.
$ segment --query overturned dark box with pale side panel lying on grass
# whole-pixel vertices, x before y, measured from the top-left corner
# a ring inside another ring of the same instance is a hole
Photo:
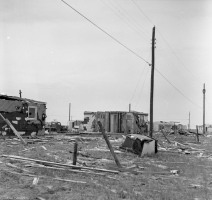
[[[151,155],[157,153],[157,140],[145,135],[130,134],[126,136],[120,148],[139,156]]]

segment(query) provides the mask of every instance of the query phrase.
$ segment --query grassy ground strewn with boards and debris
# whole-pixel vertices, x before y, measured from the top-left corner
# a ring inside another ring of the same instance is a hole
[[[27,139],[0,138],[0,200],[72,199],[212,199],[212,134],[155,133],[158,153],[139,157],[119,149],[122,135],[110,142],[122,165],[118,169],[102,136],[49,134]],[[78,143],[77,166],[47,165],[34,160],[72,164]],[[91,168],[91,169],[90,169]],[[92,168],[106,169],[95,170]],[[111,170],[111,171],[109,171]]]

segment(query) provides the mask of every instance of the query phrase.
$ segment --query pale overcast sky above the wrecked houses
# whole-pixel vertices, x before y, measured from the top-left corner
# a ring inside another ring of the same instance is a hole
[[[0,93],[47,103],[47,121],[84,111],[212,124],[211,0],[0,0]],[[81,15],[80,15],[80,14]],[[83,16],[84,17],[83,17]],[[85,19],[86,17],[86,19]],[[101,30],[100,30],[101,29]],[[115,40],[114,40],[115,39]],[[118,42],[117,42],[118,41]]]

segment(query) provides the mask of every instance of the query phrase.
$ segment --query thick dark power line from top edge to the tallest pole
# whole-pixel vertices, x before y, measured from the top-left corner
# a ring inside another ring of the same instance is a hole
[[[127,49],[128,51],[130,51],[131,53],[133,53],[135,56],[137,56],[138,58],[140,58],[141,60],[143,60],[145,63],[147,63],[149,66],[151,65],[147,60],[145,60],[143,57],[141,57],[139,54],[137,54],[135,51],[133,51],[132,49],[130,49],[129,47],[127,47],[126,45],[124,45],[123,43],[121,43],[118,39],[116,39],[115,37],[113,37],[111,34],[109,34],[108,32],[106,32],[104,29],[102,29],[100,26],[98,26],[97,24],[95,24],[94,22],[92,22],[90,19],[88,19],[85,15],[83,15],[81,12],[79,12],[78,10],[76,10],[74,7],[72,7],[70,4],[68,4],[67,2],[65,2],[64,0],[61,0],[64,4],[66,4],[69,8],[71,8],[73,11],[75,11],[76,13],[78,13],[81,17],[83,17],[84,19],[86,19],[88,22],[90,22],[93,26],[95,26],[96,28],[98,28],[100,31],[102,31],[103,33],[105,33],[107,36],[109,36],[112,40],[114,40],[115,42],[117,42],[118,44],[120,44],[121,46],[123,46],[125,49]]]

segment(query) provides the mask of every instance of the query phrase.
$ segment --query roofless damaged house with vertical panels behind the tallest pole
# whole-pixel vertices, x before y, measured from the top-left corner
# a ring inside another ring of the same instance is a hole
[[[98,132],[98,121],[106,132],[125,134],[145,134],[148,132],[148,114],[143,112],[105,111],[84,112],[84,130]]]

